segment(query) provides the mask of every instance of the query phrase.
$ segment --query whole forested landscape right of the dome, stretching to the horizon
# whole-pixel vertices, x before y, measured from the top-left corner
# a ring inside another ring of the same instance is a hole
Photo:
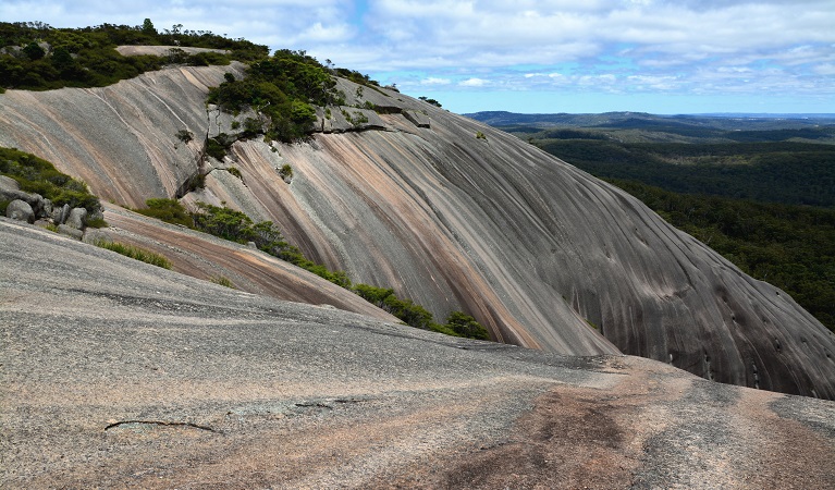
[[[470,114],[638,197],[835,331],[835,120]]]

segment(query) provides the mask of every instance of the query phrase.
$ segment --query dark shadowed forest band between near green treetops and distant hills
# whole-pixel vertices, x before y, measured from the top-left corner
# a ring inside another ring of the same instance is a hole
[[[635,180],[677,193],[835,208],[835,145],[579,138],[535,143],[600,177]]]

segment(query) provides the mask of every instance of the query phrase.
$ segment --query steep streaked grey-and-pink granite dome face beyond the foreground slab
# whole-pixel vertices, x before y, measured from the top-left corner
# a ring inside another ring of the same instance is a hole
[[[393,286],[435,317],[469,313],[501,342],[621,351],[722,382],[835,399],[835,336],[785,293],[622,191],[472,120],[341,79],[355,107],[319,111],[308,142],[242,140],[226,161],[206,161],[201,137],[175,135],[232,133],[233,117],[204,103],[229,71],[241,66],[8,90],[0,145],[131,207],[175,196],[201,171],[206,189],[185,203],[225,201],[271,220],[309,258]],[[377,111],[358,109],[366,102]],[[230,164],[243,179],[221,170]]]

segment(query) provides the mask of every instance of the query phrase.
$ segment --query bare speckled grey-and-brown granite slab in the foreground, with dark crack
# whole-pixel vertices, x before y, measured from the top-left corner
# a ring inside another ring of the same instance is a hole
[[[281,302],[1,218],[0,262],[2,488],[835,485],[833,402]]]

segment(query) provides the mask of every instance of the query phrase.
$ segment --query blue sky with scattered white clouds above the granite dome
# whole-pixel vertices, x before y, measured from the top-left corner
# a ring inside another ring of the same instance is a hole
[[[454,112],[835,113],[833,0],[2,0],[304,49]]]

